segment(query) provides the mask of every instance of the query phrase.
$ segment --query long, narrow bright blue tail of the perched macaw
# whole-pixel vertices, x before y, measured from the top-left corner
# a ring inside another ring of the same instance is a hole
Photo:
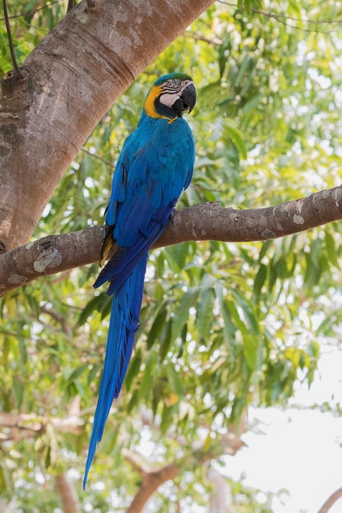
[[[120,393],[129,360],[131,360],[135,333],[139,328],[146,264],[147,254],[143,255],[131,274],[114,292],[111,302],[105,363],[90,438],[83,490],[86,489],[90,465],[96,447],[103,436],[111,404]]]

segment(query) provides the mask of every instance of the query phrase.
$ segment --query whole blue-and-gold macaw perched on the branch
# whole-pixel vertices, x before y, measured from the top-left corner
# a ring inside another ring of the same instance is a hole
[[[118,250],[94,287],[109,281],[113,295],[103,375],[90,439],[83,488],[111,404],[118,397],[133,350],[144,290],[148,250],[163,232],[192,179],[194,137],[182,118],[196,103],[194,81],[183,73],[157,80],[146,96],[137,128],[118,158],[107,207],[101,265]]]

